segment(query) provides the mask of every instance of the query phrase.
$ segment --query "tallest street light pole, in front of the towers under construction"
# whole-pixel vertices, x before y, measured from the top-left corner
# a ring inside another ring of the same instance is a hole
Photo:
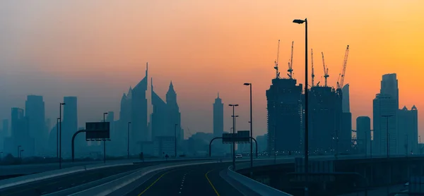
[[[308,175],[309,175],[309,136],[308,136],[308,99],[307,99],[307,18],[305,20],[295,19],[293,20],[293,23],[302,24],[305,23],[305,176],[306,176],[306,182],[305,182],[305,195],[308,195]]]

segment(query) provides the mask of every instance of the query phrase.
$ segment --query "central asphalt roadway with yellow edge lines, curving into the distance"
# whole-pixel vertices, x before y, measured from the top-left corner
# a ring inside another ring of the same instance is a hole
[[[230,163],[199,164],[157,173],[127,195],[242,195],[223,178],[220,171]]]

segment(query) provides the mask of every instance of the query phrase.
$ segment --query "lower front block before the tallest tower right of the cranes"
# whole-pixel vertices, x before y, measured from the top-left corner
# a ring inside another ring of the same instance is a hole
[[[397,153],[399,141],[396,121],[398,109],[396,104],[397,100],[393,99],[389,94],[377,94],[372,102],[372,121],[374,125],[372,149],[375,154],[387,154],[388,138],[389,154]]]

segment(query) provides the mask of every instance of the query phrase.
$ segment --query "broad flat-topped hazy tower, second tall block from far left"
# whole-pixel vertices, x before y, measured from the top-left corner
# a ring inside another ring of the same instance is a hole
[[[47,150],[47,128],[45,124],[45,102],[42,96],[28,95],[25,102],[25,117],[28,119],[30,137],[35,140],[35,154]],[[28,152],[25,151],[25,154]]]

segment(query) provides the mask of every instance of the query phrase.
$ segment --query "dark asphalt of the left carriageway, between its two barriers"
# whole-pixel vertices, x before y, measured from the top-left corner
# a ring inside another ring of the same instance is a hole
[[[115,166],[106,169],[95,169],[92,171],[83,171],[71,173],[65,176],[58,176],[46,180],[39,180],[33,183],[25,183],[23,185],[14,186],[0,190],[0,196],[17,196],[17,195],[45,195],[59,190],[72,188],[94,180],[99,180],[107,176],[112,176],[117,173],[123,173],[139,169],[148,164],[139,164],[131,166]]]

